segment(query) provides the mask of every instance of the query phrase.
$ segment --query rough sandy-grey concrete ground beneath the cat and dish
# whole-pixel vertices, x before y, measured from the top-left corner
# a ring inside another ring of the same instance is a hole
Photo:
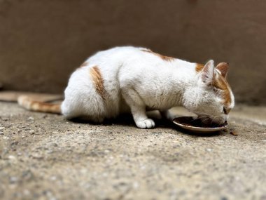
[[[8,102],[0,116],[0,199],[266,199],[266,107],[232,111],[238,135],[141,130],[130,116],[84,124]]]

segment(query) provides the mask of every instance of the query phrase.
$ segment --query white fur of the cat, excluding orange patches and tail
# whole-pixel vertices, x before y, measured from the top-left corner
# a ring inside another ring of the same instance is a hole
[[[195,71],[195,63],[162,60],[141,49],[145,48],[111,48],[88,58],[88,65],[78,68],[69,79],[62,114],[101,122],[131,112],[139,128],[153,128],[154,121],[148,119],[146,109],[167,113],[167,109],[182,105],[197,114],[218,116],[213,119],[220,123],[226,120],[221,97],[204,84],[202,73]],[[90,68],[94,66],[99,67],[104,79],[106,101],[92,83]]]

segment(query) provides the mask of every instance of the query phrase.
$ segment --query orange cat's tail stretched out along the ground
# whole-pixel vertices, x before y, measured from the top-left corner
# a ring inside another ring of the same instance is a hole
[[[38,102],[36,100],[32,100],[27,95],[20,95],[18,97],[18,104],[26,109],[36,112],[61,114],[61,103]]]

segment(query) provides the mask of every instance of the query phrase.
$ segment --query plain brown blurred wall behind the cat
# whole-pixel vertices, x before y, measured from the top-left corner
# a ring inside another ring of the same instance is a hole
[[[87,56],[134,45],[230,62],[237,101],[265,104],[265,8],[259,0],[0,0],[0,82],[61,93]]]

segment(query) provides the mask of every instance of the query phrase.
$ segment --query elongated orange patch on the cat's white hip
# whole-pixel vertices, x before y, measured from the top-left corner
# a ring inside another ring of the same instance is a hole
[[[92,76],[93,84],[96,88],[97,93],[106,100],[106,90],[104,88],[104,79],[102,79],[102,74],[99,71],[99,67],[94,66],[90,68],[90,76]]]

